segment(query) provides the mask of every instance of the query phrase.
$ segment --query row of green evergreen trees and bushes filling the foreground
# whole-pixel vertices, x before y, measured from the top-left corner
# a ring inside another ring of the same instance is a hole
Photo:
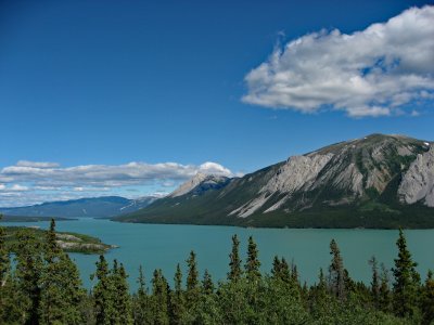
[[[369,261],[369,285],[350,278],[335,240],[330,266],[308,286],[284,258],[276,257],[270,273],[263,274],[252,237],[242,261],[234,235],[226,281],[214,282],[207,271],[200,276],[191,251],[188,273],[178,264],[173,287],[162,270],[146,281],[140,269],[132,295],[124,265],[104,256],[87,292],[77,266],[56,244],[54,221],[42,243],[26,230],[18,236],[12,268],[0,227],[0,324],[434,324],[433,274],[421,281],[403,231],[392,272],[375,258]]]

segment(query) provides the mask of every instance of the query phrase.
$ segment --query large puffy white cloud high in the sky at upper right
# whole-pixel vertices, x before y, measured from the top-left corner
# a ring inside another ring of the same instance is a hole
[[[350,35],[321,30],[292,40],[250,72],[242,101],[352,117],[387,116],[434,95],[434,6],[412,8]]]

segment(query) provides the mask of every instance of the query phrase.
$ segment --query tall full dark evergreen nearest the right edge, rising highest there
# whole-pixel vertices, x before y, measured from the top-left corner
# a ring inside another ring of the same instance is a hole
[[[398,258],[395,259],[393,274],[393,307],[398,316],[411,316],[417,311],[418,294],[420,289],[420,275],[416,271],[418,265],[413,262],[410,251],[407,249],[407,240],[404,232],[399,230],[396,242]]]

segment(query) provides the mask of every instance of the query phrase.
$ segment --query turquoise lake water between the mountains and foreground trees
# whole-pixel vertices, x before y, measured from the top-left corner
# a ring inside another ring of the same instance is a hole
[[[3,225],[38,225],[47,229],[48,222],[2,223]],[[207,269],[215,281],[225,280],[228,272],[231,236],[238,234],[242,257],[245,257],[246,242],[253,236],[258,245],[263,271],[269,272],[275,255],[294,261],[301,280],[312,284],[317,281],[319,269],[326,271],[330,264],[329,244],[337,242],[345,268],[357,281],[369,283],[371,270],[368,260],[375,255],[379,262],[388,269],[397,256],[395,242],[398,231],[390,230],[318,230],[318,229],[241,229],[208,225],[169,225],[118,223],[108,220],[84,218],[77,221],[58,222],[59,231],[69,231],[92,235],[106,244],[118,245],[105,257],[108,261],[117,259],[129,273],[132,289],[140,264],[143,265],[146,281],[154,269],[162,269],[170,281],[177,263],[186,271],[186,259],[190,250],[197,255],[199,269]],[[429,269],[434,270],[434,230],[412,230],[405,232],[408,247],[422,280]],[[71,253],[79,266],[86,287],[92,282],[89,276],[94,272],[95,255]],[[392,274],[391,274],[392,275]]]

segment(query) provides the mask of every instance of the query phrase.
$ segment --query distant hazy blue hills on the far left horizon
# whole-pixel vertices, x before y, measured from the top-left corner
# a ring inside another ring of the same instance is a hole
[[[0,208],[0,213],[25,217],[103,218],[133,212],[146,207],[155,199],[157,199],[155,196],[144,196],[138,199],[128,199],[120,196],[89,197],[50,202],[27,207]]]

